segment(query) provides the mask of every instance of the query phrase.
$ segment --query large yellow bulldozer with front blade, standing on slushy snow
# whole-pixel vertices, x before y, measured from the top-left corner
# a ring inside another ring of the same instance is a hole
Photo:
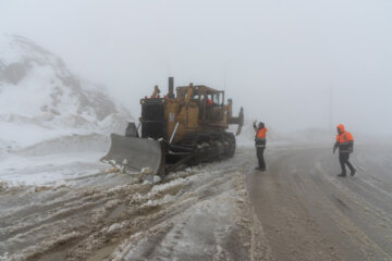
[[[235,136],[226,132],[230,124],[244,124],[244,110],[233,116],[233,102],[224,103],[224,91],[204,85],[176,87],[169,77],[169,92],[140,100],[140,124],[130,123],[124,136],[111,134],[111,148],[102,160],[115,161],[126,171],[163,176],[181,165],[195,165],[231,158],[235,152]],[[142,130],[139,130],[142,126]]]

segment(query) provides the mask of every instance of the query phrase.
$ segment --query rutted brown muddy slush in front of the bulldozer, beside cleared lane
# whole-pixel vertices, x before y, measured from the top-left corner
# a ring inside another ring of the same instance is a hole
[[[0,260],[268,258],[245,186],[253,160],[240,150],[155,186],[97,173],[58,187],[2,187]]]

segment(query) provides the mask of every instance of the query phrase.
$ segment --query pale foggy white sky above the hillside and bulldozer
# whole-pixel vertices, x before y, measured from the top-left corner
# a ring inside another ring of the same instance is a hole
[[[277,130],[330,127],[332,104],[333,125],[392,133],[390,0],[0,0],[0,30],[105,84],[135,116],[174,76],[224,88]]]

